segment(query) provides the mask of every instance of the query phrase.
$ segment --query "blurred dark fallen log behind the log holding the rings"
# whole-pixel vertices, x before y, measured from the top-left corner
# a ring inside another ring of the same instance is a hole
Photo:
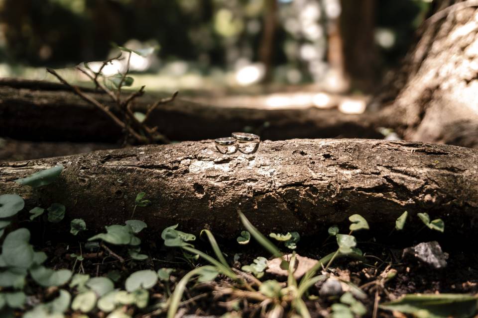
[[[102,111],[55,83],[0,80],[0,136],[25,140],[117,142],[122,134]],[[88,92],[110,105],[108,96]],[[164,97],[164,96],[163,96]],[[145,111],[158,97],[146,95],[133,107]],[[260,105],[257,105],[260,106]],[[147,122],[170,140],[226,137],[249,127],[263,139],[380,138],[373,116],[337,109],[264,109],[212,106],[176,98],[160,105]],[[267,125],[264,125],[267,123]]]

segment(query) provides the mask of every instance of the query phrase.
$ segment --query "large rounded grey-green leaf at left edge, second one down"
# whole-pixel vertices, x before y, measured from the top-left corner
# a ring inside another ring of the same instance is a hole
[[[33,264],[33,246],[29,243],[30,232],[21,228],[8,233],[2,245],[2,257],[11,267],[29,268]]]

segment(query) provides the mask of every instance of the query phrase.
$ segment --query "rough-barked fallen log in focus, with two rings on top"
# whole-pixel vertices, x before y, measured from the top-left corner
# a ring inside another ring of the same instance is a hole
[[[38,191],[13,182],[60,163],[59,179]],[[132,218],[134,198],[145,191],[151,205],[134,218],[157,232],[179,223],[234,237],[240,209],[264,233],[325,233],[358,213],[378,235],[407,210],[407,229],[427,212],[460,235],[477,226],[477,172],[478,152],[456,146],[296,139],[226,156],[201,141],[0,163],[0,193],[22,195],[26,209],[62,203],[68,219],[94,230]]]

